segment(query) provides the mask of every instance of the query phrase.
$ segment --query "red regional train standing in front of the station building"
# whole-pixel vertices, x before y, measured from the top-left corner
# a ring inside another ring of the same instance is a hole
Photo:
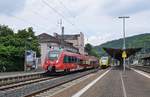
[[[97,68],[98,59],[94,56],[86,56],[65,50],[49,51],[43,64],[48,72],[75,71],[86,68]]]

